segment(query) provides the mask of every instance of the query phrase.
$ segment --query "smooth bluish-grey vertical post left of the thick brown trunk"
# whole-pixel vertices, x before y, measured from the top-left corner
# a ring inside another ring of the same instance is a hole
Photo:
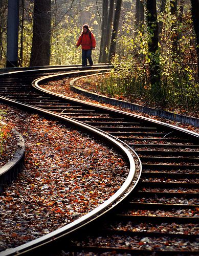
[[[8,0],[6,67],[18,66],[19,0]]]

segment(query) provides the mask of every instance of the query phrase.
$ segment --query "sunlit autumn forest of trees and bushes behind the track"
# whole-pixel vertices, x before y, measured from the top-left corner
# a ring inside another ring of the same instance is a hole
[[[83,24],[112,63],[101,90],[166,108],[198,110],[198,0],[17,0],[18,66],[81,64]],[[6,66],[8,0],[0,2],[0,67]],[[39,31],[39,33],[38,33]]]

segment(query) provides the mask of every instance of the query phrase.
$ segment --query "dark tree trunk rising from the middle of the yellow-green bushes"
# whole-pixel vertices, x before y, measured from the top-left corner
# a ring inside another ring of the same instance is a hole
[[[161,96],[160,82],[160,58],[158,52],[158,21],[156,0],[146,1],[147,12],[147,30],[149,33],[148,41],[148,58],[149,61],[149,76],[151,91],[155,100],[159,100]]]

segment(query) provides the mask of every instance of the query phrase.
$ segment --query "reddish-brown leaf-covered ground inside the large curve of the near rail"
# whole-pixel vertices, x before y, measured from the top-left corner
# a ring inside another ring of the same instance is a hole
[[[25,168],[0,196],[0,250],[85,215],[123,183],[128,166],[118,153],[60,122],[0,107],[26,142]]]

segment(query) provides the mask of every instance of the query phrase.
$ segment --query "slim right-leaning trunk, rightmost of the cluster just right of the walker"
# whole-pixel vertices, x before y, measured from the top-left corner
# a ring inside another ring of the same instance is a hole
[[[112,60],[116,54],[116,40],[118,35],[121,7],[122,7],[122,0],[117,0],[116,12],[114,17],[114,27],[112,31],[112,38],[110,40],[110,50],[109,50],[109,56],[108,56],[109,61]]]

